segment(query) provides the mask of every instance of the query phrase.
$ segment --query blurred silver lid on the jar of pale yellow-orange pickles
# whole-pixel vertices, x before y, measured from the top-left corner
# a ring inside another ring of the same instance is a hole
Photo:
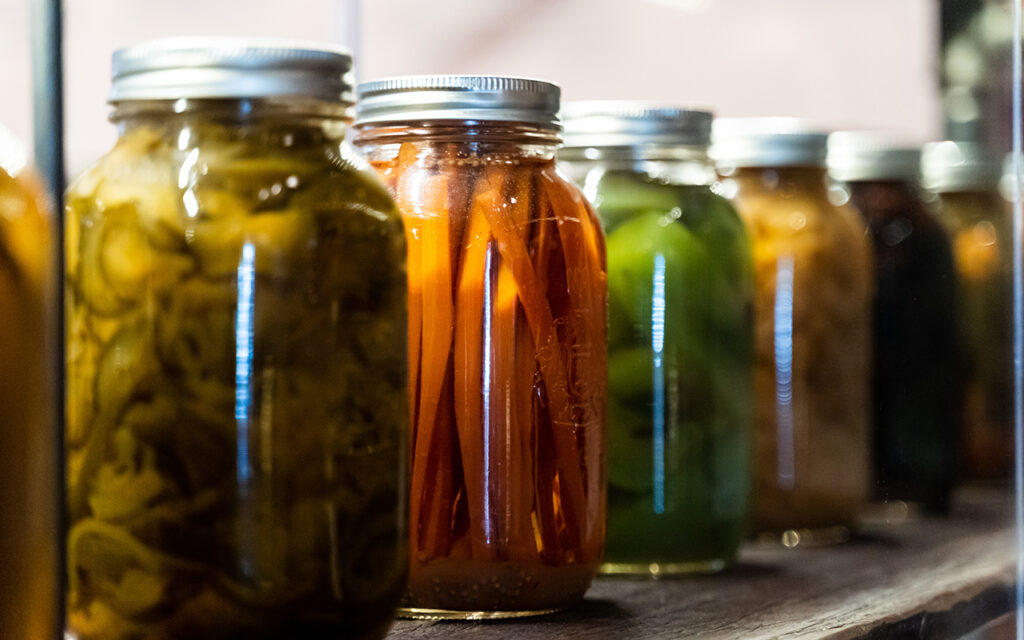
[[[824,167],[827,144],[797,118],[727,118],[712,126],[711,157],[722,168]]]

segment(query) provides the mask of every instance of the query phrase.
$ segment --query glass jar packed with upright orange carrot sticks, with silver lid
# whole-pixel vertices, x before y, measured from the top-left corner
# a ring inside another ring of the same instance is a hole
[[[559,89],[359,86],[356,143],[406,220],[413,398],[403,614],[580,601],[604,542],[604,238],[554,164]]]

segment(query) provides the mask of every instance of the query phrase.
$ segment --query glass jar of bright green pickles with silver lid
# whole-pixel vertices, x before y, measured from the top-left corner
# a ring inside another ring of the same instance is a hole
[[[718,570],[745,537],[754,267],[712,190],[712,115],[643,102],[562,111],[559,160],[608,251],[608,524],[601,570]]]

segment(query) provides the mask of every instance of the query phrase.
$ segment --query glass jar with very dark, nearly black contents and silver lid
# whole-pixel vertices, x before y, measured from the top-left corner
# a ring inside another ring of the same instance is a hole
[[[874,499],[945,512],[963,431],[956,272],[923,200],[921,150],[842,132],[828,154],[874,247]]]

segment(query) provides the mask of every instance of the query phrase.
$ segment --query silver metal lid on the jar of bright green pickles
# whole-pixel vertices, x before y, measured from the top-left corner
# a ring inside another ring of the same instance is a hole
[[[588,100],[562,108],[563,146],[711,144],[712,113],[658,102]]]

